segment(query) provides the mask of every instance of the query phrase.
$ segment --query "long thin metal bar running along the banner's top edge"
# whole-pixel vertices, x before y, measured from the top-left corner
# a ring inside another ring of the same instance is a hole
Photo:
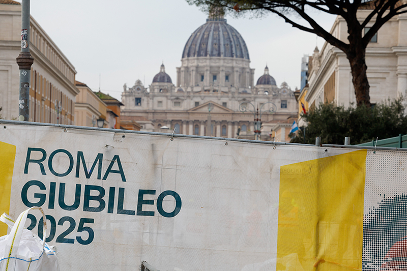
[[[197,138],[197,139],[210,139],[210,140],[222,140],[222,141],[236,141],[236,142],[247,142],[256,144],[266,144],[266,145],[288,145],[288,146],[305,146],[305,147],[316,147],[313,144],[302,144],[302,143],[289,143],[289,142],[277,142],[277,141],[263,141],[263,140],[250,140],[250,139],[240,139],[240,138],[225,138],[225,137],[212,137],[212,136],[196,136],[196,135],[183,135],[183,134],[172,134],[172,133],[157,133],[157,132],[144,132],[144,131],[133,131],[133,130],[123,130],[123,129],[111,129],[111,128],[97,128],[97,127],[87,127],[87,126],[75,126],[75,125],[64,125],[64,124],[49,124],[49,123],[34,123],[34,122],[19,122],[19,121],[9,121],[8,119],[0,119],[0,124],[2,125],[26,125],[26,126],[45,126],[45,127],[59,127],[62,129],[76,129],[76,130],[88,130],[88,131],[105,131],[113,133],[123,133],[123,134],[143,134],[143,135],[161,135],[167,137],[181,137],[181,138]],[[353,148],[353,149],[380,149],[380,150],[399,150],[401,152],[407,152],[407,148],[396,148],[396,147],[371,147],[371,146],[357,146],[357,145],[335,145],[335,144],[322,144],[323,147],[333,147],[333,148]]]

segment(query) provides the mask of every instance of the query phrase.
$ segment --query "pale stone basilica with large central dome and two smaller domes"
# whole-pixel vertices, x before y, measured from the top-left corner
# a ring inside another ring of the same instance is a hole
[[[124,85],[122,119],[142,131],[253,139],[258,109],[267,140],[276,124],[297,114],[294,92],[285,82],[277,86],[267,66],[254,84],[246,43],[223,16],[210,16],[192,33],[176,80],[162,64],[149,87],[140,80]]]

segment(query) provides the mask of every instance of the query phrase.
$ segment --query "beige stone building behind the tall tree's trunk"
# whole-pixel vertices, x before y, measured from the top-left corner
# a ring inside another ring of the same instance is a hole
[[[359,10],[359,21],[370,12]],[[348,43],[347,26],[342,17],[336,18],[330,33]],[[379,29],[367,46],[366,65],[372,104],[400,95],[407,97],[407,14],[393,17]],[[351,67],[341,50],[329,43],[325,43],[321,51],[315,48],[308,68],[309,87],[302,89],[306,94],[301,97],[310,108],[322,102],[344,106],[356,102]]]

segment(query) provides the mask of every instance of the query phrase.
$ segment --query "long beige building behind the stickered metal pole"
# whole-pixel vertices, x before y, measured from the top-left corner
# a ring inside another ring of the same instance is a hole
[[[0,107],[2,116],[18,116],[21,5],[0,0]],[[30,121],[74,124],[75,68],[48,37],[44,29],[30,18],[30,52],[34,57],[30,82]],[[55,109],[60,108],[59,112]]]

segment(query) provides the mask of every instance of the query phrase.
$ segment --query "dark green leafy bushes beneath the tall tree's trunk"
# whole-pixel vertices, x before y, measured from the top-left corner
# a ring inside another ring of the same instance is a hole
[[[315,137],[321,136],[324,144],[343,145],[346,136],[351,143],[359,144],[372,139],[385,139],[407,133],[407,115],[402,98],[358,107],[335,106],[332,103],[319,104],[314,110],[302,114],[307,123],[305,142],[314,144]],[[297,134],[291,134],[293,143],[304,143],[304,127]]]

